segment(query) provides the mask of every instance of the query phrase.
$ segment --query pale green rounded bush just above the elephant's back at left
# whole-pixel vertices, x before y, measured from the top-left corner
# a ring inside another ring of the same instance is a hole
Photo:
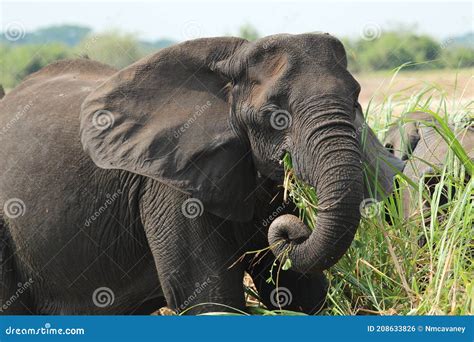
[[[123,68],[144,56],[132,34],[118,31],[88,36],[76,47],[75,53],[116,68]]]

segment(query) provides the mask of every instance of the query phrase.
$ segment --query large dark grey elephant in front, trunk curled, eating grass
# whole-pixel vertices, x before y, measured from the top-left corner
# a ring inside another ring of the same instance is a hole
[[[361,200],[390,193],[402,165],[359,91],[329,34],[200,38],[122,70],[76,59],[30,75],[0,102],[1,312],[245,310],[244,271],[269,308],[285,295],[316,312]],[[285,153],[316,189],[313,231],[283,199]],[[291,261],[277,287],[275,259]]]

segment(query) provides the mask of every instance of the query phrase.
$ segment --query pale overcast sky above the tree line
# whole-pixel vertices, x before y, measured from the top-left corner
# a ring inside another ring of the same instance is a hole
[[[326,31],[357,37],[407,24],[443,39],[473,30],[472,1],[0,1],[2,28],[11,22],[26,30],[80,24],[96,31],[118,28],[147,40],[232,34],[244,23],[261,35]]]

